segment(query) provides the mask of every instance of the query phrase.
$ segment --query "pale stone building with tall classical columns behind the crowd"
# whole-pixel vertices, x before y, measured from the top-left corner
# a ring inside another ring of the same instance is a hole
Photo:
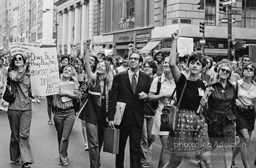
[[[77,54],[83,54],[85,40],[93,37],[93,0],[59,0],[54,3],[58,11],[58,53],[71,54],[77,45]]]

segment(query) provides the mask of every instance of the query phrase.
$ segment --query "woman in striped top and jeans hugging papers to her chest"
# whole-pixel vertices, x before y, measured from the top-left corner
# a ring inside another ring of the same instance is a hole
[[[58,135],[58,153],[60,157],[59,165],[68,165],[68,144],[70,133],[75,123],[74,99],[80,98],[78,91],[79,83],[76,78],[75,68],[66,66],[60,77],[60,92],[53,97],[54,124]],[[61,85],[74,82],[74,93],[62,91]],[[67,101],[63,101],[63,96],[68,97]]]

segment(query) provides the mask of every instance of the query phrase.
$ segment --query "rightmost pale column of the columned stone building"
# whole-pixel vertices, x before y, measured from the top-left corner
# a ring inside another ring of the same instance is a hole
[[[86,22],[87,22],[87,3],[85,2],[85,0],[81,1],[81,8],[82,8],[82,18],[81,18],[81,55],[83,56],[83,53],[85,52],[85,48],[83,45],[83,42],[85,41],[85,39],[87,38],[87,26]]]

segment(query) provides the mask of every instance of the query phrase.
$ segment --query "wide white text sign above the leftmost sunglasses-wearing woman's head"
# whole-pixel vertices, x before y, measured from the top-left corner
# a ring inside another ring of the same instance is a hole
[[[11,55],[24,54],[28,56],[30,54],[30,48],[39,47],[38,44],[33,43],[9,43]]]

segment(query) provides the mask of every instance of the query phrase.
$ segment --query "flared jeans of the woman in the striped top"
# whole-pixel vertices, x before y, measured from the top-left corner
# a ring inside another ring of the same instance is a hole
[[[58,134],[58,154],[60,156],[60,163],[67,163],[68,143],[70,133],[75,123],[75,111],[54,111],[53,119]]]

